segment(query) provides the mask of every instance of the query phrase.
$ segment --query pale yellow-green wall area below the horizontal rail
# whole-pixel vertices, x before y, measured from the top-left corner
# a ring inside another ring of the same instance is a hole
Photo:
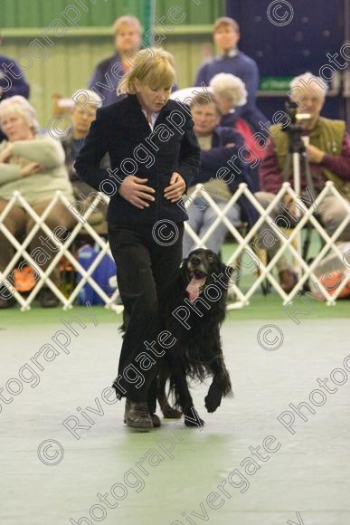
[[[6,43],[2,52],[14,59],[28,54],[29,39],[17,39]],[[204,50],[211,47],[210,35],[188,37],[167,36],[164,47],[175,56],[179,87],[192,86],[195,72],[203,62]],[[52,116],[52,95],[60,93],[71,97],[74,91],[88,86],[97,63],[113,54],[113,41],[106,36],[89,39],[65,38],[49,48],[46,62],[34,60],[33,66],[24,72],[31,85],[30,101],[38,111],[44,128]]]

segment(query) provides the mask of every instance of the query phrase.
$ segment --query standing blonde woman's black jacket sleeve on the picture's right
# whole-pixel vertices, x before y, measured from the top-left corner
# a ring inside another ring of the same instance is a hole
[[[184,137],[181,141],[180,157],[177,173],[183,177],[186,189],[192,186],[201,162],[201,148],[194,135],[194,123],[192,119],[186,119]]]

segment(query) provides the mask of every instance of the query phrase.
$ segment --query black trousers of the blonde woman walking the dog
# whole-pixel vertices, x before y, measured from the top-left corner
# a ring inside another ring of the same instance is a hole
[[[157,234],[152,234],[149,225],[109,224],[109,245],[117,264],[126,325],[118,377],[113,387],[119,396],[147,401],[151,413],[156,411],[156,372],[160,358],[147,349],[145,342],[152,343],[162,331],[159,302],[182,260],[183,234],[183,223],[172,225],[169,237],[166,239],[163,233],[160,240]],[[161,352],[157,344],[154,348]],[[135,359],[141,352],[156,361],[147,370],[142,369],[147,367],[144,357]]]

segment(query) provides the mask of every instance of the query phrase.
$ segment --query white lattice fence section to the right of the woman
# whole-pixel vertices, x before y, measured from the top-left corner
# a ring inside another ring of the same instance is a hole
[[[279,236],[279,240],[281,242],[280,248],[267,265],[263,264],[263,262],[261,262],[260,260],[257,261],[257,266],[259,266],[259,275],[257,275],[257,279],[253,282],[249,290],[243,292],[238,288],[238,286],[236,286],[234,282],[232,283],[232,289],[236,293],[238,303],[240,303],[241,305],[249,304],[251,296],[255,291],[259,289],[261,282],[263,282],[265,279],[268,279],[270,285],[275,289],[275,291],[279,293],[279,296],[282,298],[283,303],[286,304],[296,296],[298,291],[300,291],[303,288],[305,282],[307,282],[307,280],[311,277],[313,282],[318,283],[320,291],[324,293],[327,304],[335,304],[337,297],[349,281],[349,276],[345,276],[343,282],[341,282],[339,286],[337,286],[336,291],[331,295],[326,289],[326,287],[323,285],[323,283],[318,282],[317,275],[314,273],[317,264],[322,261],[326,254],[335,253],[340,260],[344,260],[344,253],[340,252],[339,248],[336,246],[336,241],[339,238],[339,235],[345,229],[345,226],[349,223],[350,214],[348,213],[345,216],[345,219],[341,224],[338,225],[336,231],[334,232],[334,234],[332,234],[332,236],[329,236],[326,233],[326,230],[321,224],[319,224],[317,218],[315,217],[315,212],[317,212],[318,205],[320,205],[325,200],[326,196],[335,196],[341,205],[344,205],[345,208],[349,209],[348,203],[345,201],[344,197],[337,191],[336,186],[334,186],[332,182],[328,181],[326,183],[326,186],[324,187],[322,192],[319,194],[319,196],[317,196],[317,199],[315,199],[313,205],[309,208],[307,208],[300,199],[298,199],[297,201],[298,195],[295,193],[295,191],[292,189],[289,183],[284,183],[282,185],[282,187],[279,190],[279,193],[273,198],[273,200],[270,202],[270,205],[266,209],[264,209],[262,205],[260,205],[259,201],[253,194],[251,194],[251,191],[245,184],[241,184],[239,186],[239,189],[232,196],[231,200],[227,203],[223,210],[221,210],[215,204],[213,198],[206,191],[204,191],[204,193],[202,194],[201,192],[203,192],[203,185],[197,185],[194,190],[194,193],[191,196],[191,199],[189,199],[185,205],[186,208],[188,208],[191,205],[194,205],[195,196],[203,195],[203,198],[207,202],[207,204],[213,208],[214,212],[217,215],[217,218],[201,239],[198,237],[197,234],[194,233],[193,229],[189,226],[189,224],[186,223],[184,226],[185,231],[191,236],[191,238],[194,240],[194,243],[196,243],[197,247],[205,248],[206,241],[214,233],[218,224],[220,224],[220,222],[225,224],[230,233],[232,234],[233,238],[237,242],[236,248],[233,249],[229,259],[226,261],[226,263],[228,264],[237,262],[244,251],[250,253],[251,258],[257,260],[257,255],[252,249],[255,245],[254,238],[259,233],[260,228],[264,224],[266,224],[266,221],[270,224],[274,222],[270,216],[270,213],[273,210],[273,208],[282,201],[283,196],[289,195],[291,199],[298,202],[298,205],[303,209],[304,215],[302,215],[299,218],[298,223],[295,226],[295,228],[293,228],[292,233],[289,235],[289,238],[286,238],[285,235],[279,231],[279,228],[274,228],[274,234],[277,234]],[[251,205],[253,205],[256,208],[260,215],[259,220],[252,226],[251,230],[244,238],[241,236],[238,229],[235,228],[226,217],[232,205],[234,205],[242,195],[246,196],[250,200]],[[317,254],[317,257],[313,260],[313,262],[310,265],[308,265],[307,262],[302,259],[300,254],[301,230],[307,224],[307,221],[309,221],[310,224],[312,224],[317,233],[325,242],[325,245],[322,247],[321,251]],[[298,248],[296,248],[293,245],[294,240],[297,241]],[[298,265],[301,269],[301,271],[298,272],[298,282],[296,283],[294,289],[289,292],[289,294],[282,290],[282,288],[279,285],[279,282],[276,281],[274,275],[272,274],[272,270],[275,267],[276,262],[278,262],[281,255],[288,250],[293,255],[295,261],[298,262]],[[229,306],[229,308],[232,307],[234,306]]]

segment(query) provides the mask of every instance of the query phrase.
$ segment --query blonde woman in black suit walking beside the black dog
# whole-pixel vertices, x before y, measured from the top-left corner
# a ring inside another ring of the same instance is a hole
[[[136,428],[160,425],[156,361],[172,338],[158,338],[158,304],[181,262],[188,218],[181,197],[200,163],[190,111],[169,100],[174,83],[170,53],[138,52],[118,87],[128,96],[98,110],[75,163],[83,180],[110,196],[109,244],[128,319],[113,387],[126,396],[125,422]],[[99,167],[106,152],[108,170]]]

